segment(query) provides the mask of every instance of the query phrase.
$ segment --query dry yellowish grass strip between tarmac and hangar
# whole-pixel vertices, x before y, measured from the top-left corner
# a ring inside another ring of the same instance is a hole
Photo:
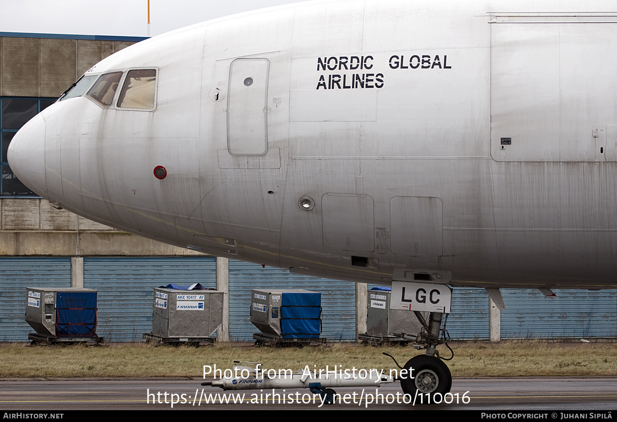
[[[542,340],[451,344],[454,358],[447,365],[455,377],[492,376],[617,376],[617,344],[560,344]],[[443,345],[442,357],[451,353]],[[0,378],[30,377],[187,377],[202,378],[203,366],[228,369],[234,360],[260,362],[263,368],[396,369],[423,350],[333,344],[320,347],[155,347],[128,344],[110,347],[0,346]]]

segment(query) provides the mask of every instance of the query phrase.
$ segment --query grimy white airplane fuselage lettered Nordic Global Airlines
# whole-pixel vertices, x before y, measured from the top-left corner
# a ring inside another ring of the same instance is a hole
[[[154,110],[59,101],[10,166],[94,221],[292,272],[614,286],[617,7],[535,5],[307,2],[157,36],[88,71],[156,69]]]

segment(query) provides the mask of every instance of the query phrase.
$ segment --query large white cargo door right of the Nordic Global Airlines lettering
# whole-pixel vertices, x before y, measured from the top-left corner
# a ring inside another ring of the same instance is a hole
[[[503,14],[491,25],[492,158],[617,161],[605,132],[617,124],[617,22],[590,22],[615,17],[545,18]]]

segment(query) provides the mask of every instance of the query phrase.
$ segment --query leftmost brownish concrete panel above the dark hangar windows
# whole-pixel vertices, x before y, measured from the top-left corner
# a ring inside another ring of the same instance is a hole
[[[6,96],[39,95],[39,38],[2,40],[2,92]]]

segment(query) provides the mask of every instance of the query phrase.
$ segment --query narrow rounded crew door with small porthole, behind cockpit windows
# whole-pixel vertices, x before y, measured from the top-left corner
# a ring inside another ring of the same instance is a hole
[[[233,156],[268,152],[268,59],[235,59],[227,97],[227,148]]]

